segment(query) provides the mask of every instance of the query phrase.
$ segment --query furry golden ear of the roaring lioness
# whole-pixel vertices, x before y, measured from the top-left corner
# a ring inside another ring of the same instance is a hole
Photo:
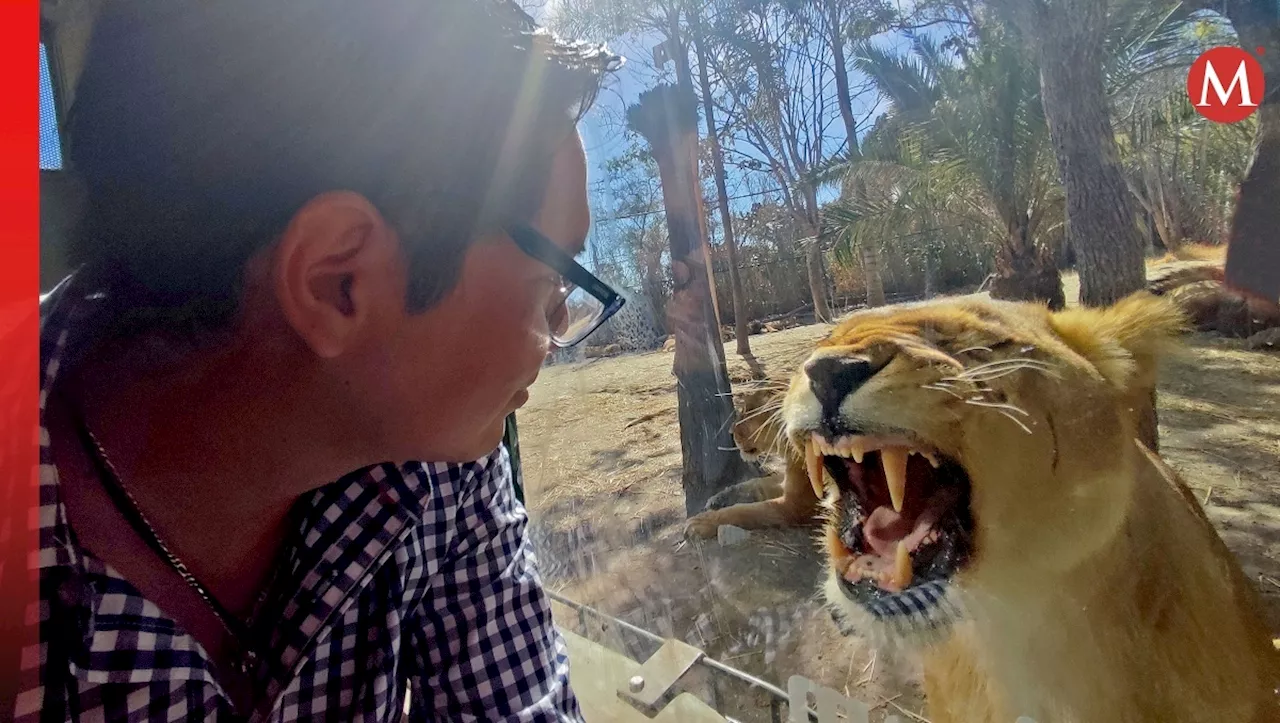
[[[1187,326],[1171,301],[1147,292],[1105,308],[1060,311],[1050,322],[1069,347],[1120,389],[1153,385],[1157,360]]]

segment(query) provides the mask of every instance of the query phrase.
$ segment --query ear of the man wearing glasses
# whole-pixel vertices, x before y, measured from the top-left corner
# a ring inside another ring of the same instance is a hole
[[[388,319],[384,307],[403,307],[398,238],[364,196],[321,193],[280,235],[271,283],[303,342],[320,357],[338,357]]]

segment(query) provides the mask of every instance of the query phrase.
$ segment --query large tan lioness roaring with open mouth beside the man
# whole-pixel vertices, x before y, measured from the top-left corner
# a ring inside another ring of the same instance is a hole
[[[933,723],[1280,720],[1257,591],[1138,441],[1180,312],[979,297],[859,312],[782,413],[828,603],[918,650]]]

